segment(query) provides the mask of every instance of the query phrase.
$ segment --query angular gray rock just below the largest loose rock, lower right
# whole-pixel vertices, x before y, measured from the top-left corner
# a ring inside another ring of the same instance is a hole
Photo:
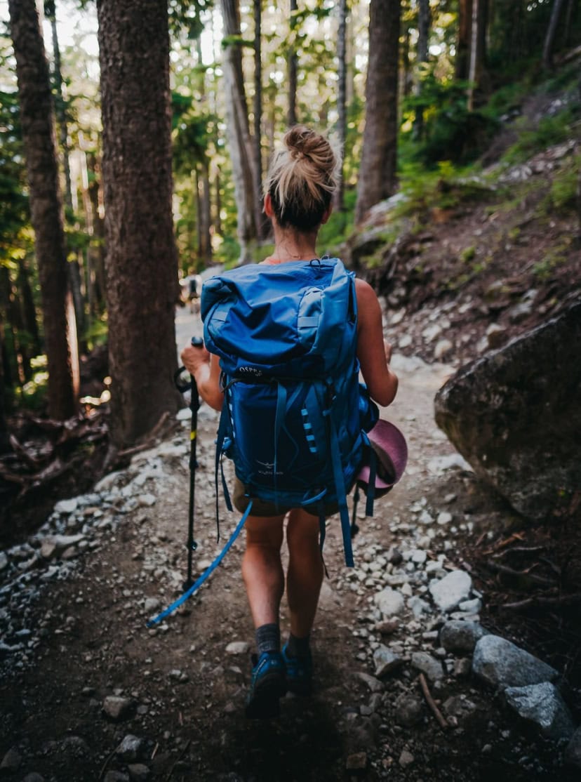
[[[525,687],[507,687],[504,697],[518,715],[538,726],[543,736],[554,741],[572,737],[575,726],[571,712],[554,684],[541,682]]]

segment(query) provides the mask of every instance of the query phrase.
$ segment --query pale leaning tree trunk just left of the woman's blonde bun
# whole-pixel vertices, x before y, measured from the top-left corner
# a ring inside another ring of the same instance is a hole
[[[238,0],[221,0],[224,17],[224,36],[240,36]],[[238,213],[238,242],[240,263],[251,260],[249,242],[256,239],[256,187],[253,174],[253,149],[249,135],[248,109],[242,74],[240,45],[228,41],[224,50],[224,92],[228,146],[234,178],[236,211]]]

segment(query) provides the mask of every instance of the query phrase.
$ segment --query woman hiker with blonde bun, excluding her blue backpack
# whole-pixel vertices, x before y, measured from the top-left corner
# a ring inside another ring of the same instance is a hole
[[[327,138],[296,125],[283,139],[267,176],[264,212],[274,231],[274,252],[263,264],[285,264],[317,258],[317,233],[328,221],[337,186],[338,158]],[[384,343],[382,313],[371,286],[356,280],[357,359],[372,400],[389,405],[396,396],[397,378],[389,368],[391,346]],[[221,410],[221,368],[216,355],[188,345],[181,353],[185,368],[195,377],[200,396]],[[239,481],[237,479],[237,484]],[[243,512],[248,499],[236,486],[234,504]],[[246,552],[242,576],[256,628],[257,660],[246,701],[249,717],[274,716],[287,689],[307,695],[312,689],[310,631],[317,612],[324,565],[319,549],[319,520],[303,508],[288,512],[286,540],[289,567],[286,594],[290,635],[281,651],[279,608],[285,591],[281,562],[285,514],[261,504],[246,521]]]

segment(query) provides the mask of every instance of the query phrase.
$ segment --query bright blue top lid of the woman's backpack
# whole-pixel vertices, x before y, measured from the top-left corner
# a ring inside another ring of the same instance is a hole
[[[338,258],[254,264],[203,287],[204,341],[229,375],[335,375],[353,361],[353,272]]]

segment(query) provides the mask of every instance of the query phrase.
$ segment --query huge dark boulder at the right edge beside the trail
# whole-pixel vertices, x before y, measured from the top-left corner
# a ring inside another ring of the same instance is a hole
[[[581,487],[581,302],[461,368],[436,423],[518,513],[566,512]]]

